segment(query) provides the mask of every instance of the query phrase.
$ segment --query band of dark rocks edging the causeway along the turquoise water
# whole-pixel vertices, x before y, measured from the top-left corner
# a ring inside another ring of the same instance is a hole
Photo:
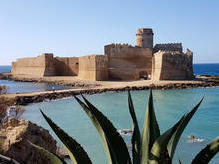
[[[50,101],[61,99],[64,97],[71,97],[73,95],[78,94],[97,94],[103,92],[121,92],[127,90],[147,90],[147,89],[191,89],[191,88],[198,88],[198,87],[216,87],[219,86],[219,83],[215,82],[208,82],[208,83],[190,83],[190,84],[168,84],[163,86],[157,85],[150,85],[150,86],[126,86],[121,88],[94,88],[94,89],[83,89],[78,91],[63,91],[63,92],[47,92],[41,93],[33,96],[17,96],[15,97],[15,102],[17,105],[27,105],[30,103],[37,103],[43,101]]]

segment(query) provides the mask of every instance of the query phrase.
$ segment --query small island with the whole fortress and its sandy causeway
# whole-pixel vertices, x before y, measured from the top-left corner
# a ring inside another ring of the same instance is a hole
[[[140,28],[136,46],[109,44],[104,55],[20,58],[11,73],[1,79],[70,85],[74,88],[32,93],[6,94],[17,104],[59,99],[79,93],[142,89],[182,89],[218,86],[218,77],[193,74],[193,52],[183,52],[182,43],[153,44],[151,28]]]

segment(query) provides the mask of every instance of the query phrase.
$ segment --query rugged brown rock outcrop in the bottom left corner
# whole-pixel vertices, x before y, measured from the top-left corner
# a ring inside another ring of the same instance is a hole
[[[0,134],[0,151],[20,163],[49,164],[46,157],[33,148],[28,141],[52,153],[56,153],[57,150],[56,141],[49,131],[27,120],[19,120],[16,126],[9,124],[6,129],[0,129]]]

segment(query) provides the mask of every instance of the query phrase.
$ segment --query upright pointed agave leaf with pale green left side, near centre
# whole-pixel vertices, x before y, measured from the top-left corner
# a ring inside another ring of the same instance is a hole
[[[152,90],[150,90],[148,109],[145,114],[144,126],[141,138],[141,163],[146,164],[149,160],[151,148],[155,140],[160,136],[160,129],[156,120]]]

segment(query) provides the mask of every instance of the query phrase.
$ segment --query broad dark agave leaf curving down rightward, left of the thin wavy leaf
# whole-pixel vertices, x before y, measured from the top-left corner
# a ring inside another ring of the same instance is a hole
[[[98,126],[94,124],[94,126],[101,127],[102,132],[104,132],[105,140],[107,141],[108,145],[108,152],[111,156],[111,161],[113,164],[127,164],[131,163],[131,159],[129,156],[128,149],[126,147],[126,144],[124,140],[122,139],[121,135],[117,132],[116,128],[113,126],[113,124],[107,119],[106,116],[104,116],[94,105],[92,105],[83,95],[82,95],[86,105],[80,101],[76,96],[76,100],[79,102],[79,104],[82,106],[82,108],[85,110],[89,110],[91,112],[91,115],[88,115],[91,121],[93,120],[93,117],[98,121]],[[84,105],[82,105],[84,104]],[[87,112],[86,112],[87,113]],[[93,121],[92,121],[93,122]],[[94,122],[93,122],[94,123]],[[98,129],[97,129],[98,131]],[[98,131],[99,132],[99,131]],[[103,135],[99,133],[99,135],[102,137]]]

